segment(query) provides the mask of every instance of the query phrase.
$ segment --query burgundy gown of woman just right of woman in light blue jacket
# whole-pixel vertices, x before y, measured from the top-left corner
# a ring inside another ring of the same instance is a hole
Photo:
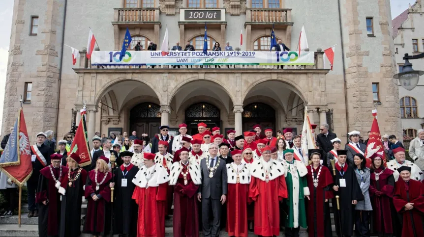
[[[374,229],[377,232],[386,234],[393,233],[392,219],[392,198],[394,193],[394,177],[393,170],[385,168],[383,173],[379,175],[379,179],[375,180],[375,174],[381,172],[384,167],[379,167],[371,173],[369,195],[372,203],[372,217],[374,220]],[[393,216],[396,218],[396,216]]]

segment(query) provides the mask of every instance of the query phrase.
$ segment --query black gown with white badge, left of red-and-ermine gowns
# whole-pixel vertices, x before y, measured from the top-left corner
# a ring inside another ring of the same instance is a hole
[[[138,167],[130,164],[131,169],[126,173],[122,172],[121,167],[116,168],[114,175],[115,189],[114,189],[114,229],[113,234],[122,235],[137,235],[137,218],[138,218],[138,205],[132,199],[132,194],[135,189],[135,184],[132,179],[138,172]],[[122,179],[127,180],[127,186],[122,187]]]

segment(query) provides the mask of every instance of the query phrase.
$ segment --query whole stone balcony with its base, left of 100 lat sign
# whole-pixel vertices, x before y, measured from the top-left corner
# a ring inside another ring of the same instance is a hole
[[[114,20],[112,25],[120,28],[126,26],[149,27],[159,24],[159,8],[114,8]]]

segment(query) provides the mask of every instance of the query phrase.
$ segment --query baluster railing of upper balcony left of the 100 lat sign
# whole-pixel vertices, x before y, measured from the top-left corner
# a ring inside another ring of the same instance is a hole
[[[114,8],[117,23],[158,22],[159,8]]]

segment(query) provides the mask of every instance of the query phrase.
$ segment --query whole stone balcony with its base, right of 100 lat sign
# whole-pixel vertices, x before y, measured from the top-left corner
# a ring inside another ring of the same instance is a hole
[[[247,8],[245,25],[262,27],[275,24],[276,28],[286,28],[293,25],[291,11],[292,9]]]

